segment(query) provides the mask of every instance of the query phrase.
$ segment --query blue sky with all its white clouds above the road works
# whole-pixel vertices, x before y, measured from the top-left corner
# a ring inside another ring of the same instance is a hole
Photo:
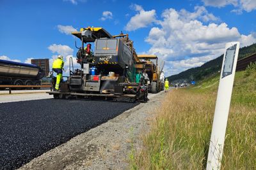
[[[0,0],[0,59],[76,56],[70,31],[94,26],[127,32],[137,53],[166,61],[170,76],[218,57],[228,41],[256,43],[255,0],[180,2]]]

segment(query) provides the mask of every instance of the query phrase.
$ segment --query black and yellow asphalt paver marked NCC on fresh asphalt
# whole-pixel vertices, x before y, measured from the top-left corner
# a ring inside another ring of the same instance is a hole
[[[81,40],[81,46],[76,45],[76,60],[81,67],[74,70],[70,58],[67,81],[60,83],[60,92],[49,94],[55,99],[76,96],[147,101],[148,88],[143,76],[145,66],[141,64],[128,34],[121,32],[112,36],[102,27],[86,27],[72,32],[72,35]],[[54,83],[55,78],[52,78],[52,87]]]

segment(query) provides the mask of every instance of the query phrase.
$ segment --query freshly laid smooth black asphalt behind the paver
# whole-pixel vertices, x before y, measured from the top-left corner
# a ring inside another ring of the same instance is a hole
[[[0,169],[16,169],[136,105],[62,99],[1,103]]]

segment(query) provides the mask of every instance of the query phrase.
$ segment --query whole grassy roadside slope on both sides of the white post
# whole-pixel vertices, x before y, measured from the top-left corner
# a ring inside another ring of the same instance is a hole
[[[205,169],[219,79],[166,95],[131,169]],[[256,64],[236,73],[221,169],[256,169],[255,85]]]

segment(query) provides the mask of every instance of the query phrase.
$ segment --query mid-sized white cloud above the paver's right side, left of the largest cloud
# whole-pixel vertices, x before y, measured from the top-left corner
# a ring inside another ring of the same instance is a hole
[[[138,4],[133,4],[131,8],[138,11],[138,13],[131,17],[125,26],[125,30],[134,31],[136,29],[147,27],[148,25],[152,24],[152,22],[157,22],[156,10],[145,11],[143,10],[142,6]]]

